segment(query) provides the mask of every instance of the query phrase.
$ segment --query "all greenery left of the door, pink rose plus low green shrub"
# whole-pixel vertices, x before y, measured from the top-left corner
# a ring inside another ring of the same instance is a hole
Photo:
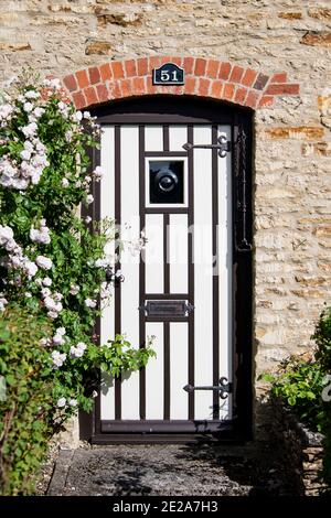
[[[89,112],[76,111],[63,97],[55,79],[25,74],[0,99],[4,494],[31,490],[30,475],[49,438],[78,408],[92,409],[100,371],[137,370],[153,355],[150,341],[138,348],[116,335],[98,344],[93,334],[116,280],[113,274],[109,281],[109,271],[118,256],[107,250],[124,246],[114,222],[93,224],[77,215],[81,204],[94,203],[92,187],[103,175],[99,166],[92,171],[87,153],[98,145],[99,132]],[[129,245],[139,250],[143,239]]]

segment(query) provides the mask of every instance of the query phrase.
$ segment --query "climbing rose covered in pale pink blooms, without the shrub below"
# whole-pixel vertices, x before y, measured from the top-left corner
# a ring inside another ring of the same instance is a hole
[[[117,258],[105,252],[117,236],[114,222],[90,228],[89,216],[77,216],[79,204],[94,203],[90,187],[103,175],[100,166],[90,171],[87,154],[99,132],[88,111],[76,111],[64,98],[58,80],[25,74],[2,94],[0,319],[19,306],[49,321],[49,335],[38,344],[40,376],[52,381],[49,411],[58,421],[79,407],[90,410],[100,369],[118,376],[153,355],[150,342],[139,349],[117,335],[99,346],[93,335],[115,281],[113,276],[107,282],[106,269]],[[143,239],[129,245],[140,249]],[[121,246],[118,240],[115,249]]]

